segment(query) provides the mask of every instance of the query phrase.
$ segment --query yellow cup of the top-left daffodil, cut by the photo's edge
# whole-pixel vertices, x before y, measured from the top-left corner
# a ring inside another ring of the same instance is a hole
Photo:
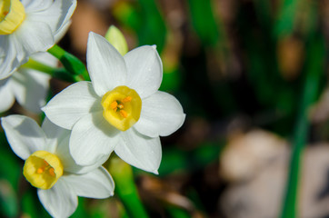
[[[0,1],[0,35],[10,35],[25,19],[24,5],[19,0]]]

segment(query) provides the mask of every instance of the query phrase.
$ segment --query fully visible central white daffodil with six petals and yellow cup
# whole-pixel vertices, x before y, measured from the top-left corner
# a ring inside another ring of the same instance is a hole
[[[75,162],[88,165],[115,151],[126,163],[157,173],[159,136],[174,133],[185,114],[173,95],[158,91],[163,69],[155,46],[122,56],[90,33],[87,67],[91,83],[70,85],[42,108],[53,123],[72,129]]]

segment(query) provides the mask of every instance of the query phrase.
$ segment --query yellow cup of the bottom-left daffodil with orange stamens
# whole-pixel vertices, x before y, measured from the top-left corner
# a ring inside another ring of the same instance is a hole
[[[36,188],[50,189],[63,175],[63,165],[55,154],[37,151],[26,159],[23,174]]]

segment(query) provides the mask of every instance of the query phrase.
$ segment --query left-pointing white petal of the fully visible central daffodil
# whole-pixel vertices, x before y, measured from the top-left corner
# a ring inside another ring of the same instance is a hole
[[[86,114],[103,111],[101,99],[95,94],[90,82],[79,82],[56,94],[42,110],[51,122],[66,129]]]

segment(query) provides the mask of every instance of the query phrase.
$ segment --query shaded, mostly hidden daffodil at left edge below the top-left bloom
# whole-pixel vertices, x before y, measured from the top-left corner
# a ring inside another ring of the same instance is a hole
[[[34,54],[31,58],[50,66],[57,64],[57,59],[47,53]],[[15,103],[15,99],[26,110],[40,113],[40,108],[45,105],[50,78],[48,74],[20,67],[12,76],[0,80],[0,113],[8,110]]]

